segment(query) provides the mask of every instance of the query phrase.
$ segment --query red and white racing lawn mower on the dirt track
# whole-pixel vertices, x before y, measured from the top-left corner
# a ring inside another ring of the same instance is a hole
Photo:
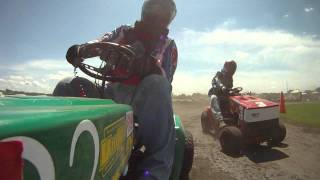
[[[239,154],[245,145],[257,145],[262,142],[279,144],[286,136],[286,128],[279,121],[279,105],[251,95],[241,95],[241,87],[229,92],[226,102],[220,102],[220,108],[226,126],[219,129],[211,106],[201,114],[204,133],[214,132],[219,138],[222,151],[227,154]]]

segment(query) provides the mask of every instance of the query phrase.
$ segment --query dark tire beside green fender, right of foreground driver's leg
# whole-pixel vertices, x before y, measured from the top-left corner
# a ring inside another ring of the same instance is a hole
[[[180,180],[189,180],[189,172],[192,168],[193,156],[194,156],[194,144],[193,144],[193,136],[189,131],[185,131],[186,139],[185,139],[185,148],[184,148],[184,156],[183,163],[180,172]]]

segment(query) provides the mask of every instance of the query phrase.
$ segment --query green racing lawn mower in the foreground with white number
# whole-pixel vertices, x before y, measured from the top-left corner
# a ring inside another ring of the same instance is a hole
[[[85,59],[79,68],[101,89],[107,81],[126,78],[106,72],[116,60],[134,63],[135,52],[129,46],[109,42],[91,46],[99,50],[102,64],[95,67]],[[116,180],[138,163],[132,156],[139,127],[129,105],[102,98],[13,95],[0,97],[0,108],[0,179]],[[193,138],[179,116],[174,120],[170,179],[186,180],[193,163]]]

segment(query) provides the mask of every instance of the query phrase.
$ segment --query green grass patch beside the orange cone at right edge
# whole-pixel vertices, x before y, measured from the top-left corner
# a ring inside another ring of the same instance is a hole
[[[286,110],[285,114],[281,114],[281,119],[308,127],[320,128],[320,101],[287,103]]]

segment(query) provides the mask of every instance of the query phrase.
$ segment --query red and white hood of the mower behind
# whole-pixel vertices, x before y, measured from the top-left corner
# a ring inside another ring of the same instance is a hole
[[[231,96],[230,99],[238,104],[240,121],[254,123],[280,116],[278,103],[249,95]]]

